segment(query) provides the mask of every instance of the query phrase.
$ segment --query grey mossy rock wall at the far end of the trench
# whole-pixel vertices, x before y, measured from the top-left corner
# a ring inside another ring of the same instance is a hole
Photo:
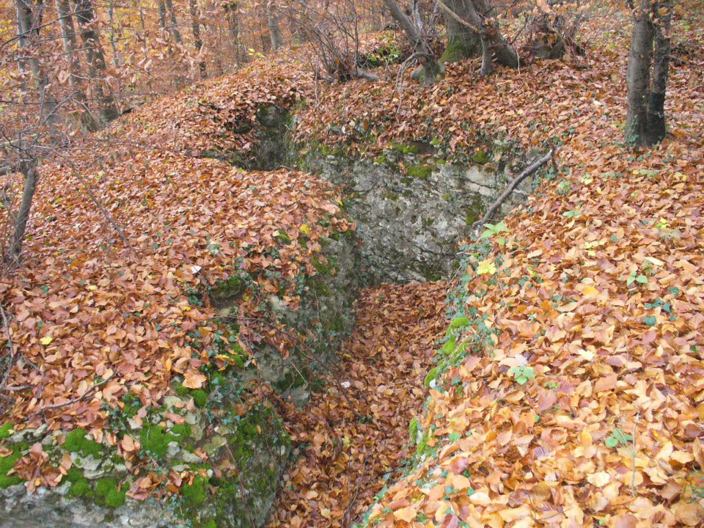
[[[415,147],[413,147],[415,150]],[[377,282],[435,280],[451,275],[458,244],[505,189],[503,172],[482,165],[460,166],[417,153],[387,151],[376,161],[329,155],[313,170],[348,189],[347,213],[363,239],[365,269]],[[405,167],[405,170],[400,168]],[[522,201],[530,181],[501,208]]]

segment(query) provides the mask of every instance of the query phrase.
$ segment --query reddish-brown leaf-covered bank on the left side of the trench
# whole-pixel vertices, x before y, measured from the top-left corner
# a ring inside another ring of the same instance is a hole
[[[308,175],[139,151],[83,177],[132,253],[70,168],[42,170],[25,263],[0,279],[23,354],[8,383],[25,387],[11,415],[27,427],[80,426],[100,438],[101,403],[119,406],[131,390],[151,405],[175,374],[199,386],[211,338],[201,331],[194,348],[191,331],[208,326],[213,308],[191,306],[187,291],[244,270],[295,303],[290,281],[315,274],[318,239],[350,226],[334,189]]]

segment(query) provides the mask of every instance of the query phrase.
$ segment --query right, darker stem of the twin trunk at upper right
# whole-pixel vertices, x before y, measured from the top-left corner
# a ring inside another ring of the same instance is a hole
[[[663,13],[660,11],[664,10]],[[670,21],[672,18],[672,0],[660,0],[655,24],[655,55],[653,56],[653,80],[648,94],[648,130],[647,142],[652,145],[665,139],[665,92],[667,92],[667,75],[670,70]]]

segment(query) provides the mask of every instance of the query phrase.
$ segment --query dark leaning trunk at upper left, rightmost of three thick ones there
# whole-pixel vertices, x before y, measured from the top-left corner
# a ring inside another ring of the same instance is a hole
[[[86,50],[88,73],[93,83],[93,92],[98,99],[99,113],[104,122],[109,122],[120,115],[115,99],[108,86],[103,86],[105,80],[105,55],[100,46],[100,37],[94,29],[95,15],[91,0],[74,0],[76,19],[80,26],[81,40]]]

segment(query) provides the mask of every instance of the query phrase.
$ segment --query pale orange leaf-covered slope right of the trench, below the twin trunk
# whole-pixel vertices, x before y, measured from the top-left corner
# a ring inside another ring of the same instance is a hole
[[[676,169],[582,173],[506,221],[460,287],[477,324],[429,399],[436,451],[372,524],[700,522],[704,184]]]

